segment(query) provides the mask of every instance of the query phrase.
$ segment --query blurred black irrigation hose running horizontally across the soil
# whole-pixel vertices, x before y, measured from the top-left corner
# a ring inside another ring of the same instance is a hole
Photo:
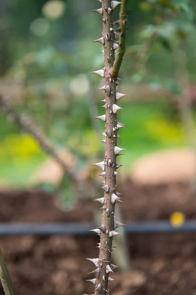
[[[0,223],[0,236],[10,235],[95,235],[89,232],[92,223]],[[126,234],[159,234],[196,232],[196,220],[187,220],[181,227],[175,228],[169,221],[146,221],[129,223],[124,228]]]

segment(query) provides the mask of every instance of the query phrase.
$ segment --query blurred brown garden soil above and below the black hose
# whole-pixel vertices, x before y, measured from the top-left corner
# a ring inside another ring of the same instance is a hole
[[[174,211],[196,218],[196,194],[186,184],[121,183],[124,222],[168,220]],[[94,202],[56,207],[56,197],[32,191],[0,192],[0,222],[92,222]],[[111,276],[111,295],[196,295],[196,233],[127,236],[131,269]],[[0,245],[17,295],[92,294],[85,280],[98,257],[97,236],[4,236]],[[3,295],[0,287],[0,295]]]

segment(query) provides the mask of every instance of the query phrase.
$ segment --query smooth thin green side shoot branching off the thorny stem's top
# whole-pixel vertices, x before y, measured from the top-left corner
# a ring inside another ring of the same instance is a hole
[[[121,67],[121,63],[123,61],[123,56],[125,53],[125,39],[126,39],[126,24],[127,24],[127,3],[128,0],[123,0],[121,4],[121,11],[120,11],[120,28],[118,29],[120,31],[119,36],[119,51],[116,55],[116,58],[114,60],[114,65],[111,70],[111,77],[117,78],[119,75],[119,70]],[[117,24],[119,23],[116,22]],[[116,34],[116,32],[115,32]],[[118,34],[118,33],[117,33]]]

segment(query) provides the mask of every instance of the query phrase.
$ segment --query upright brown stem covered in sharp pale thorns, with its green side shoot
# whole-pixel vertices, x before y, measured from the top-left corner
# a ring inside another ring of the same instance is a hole
[[[115,43],[115,39],[119,37],[119,33],[113,29],[113,10],[121,2],[113,0],[99,0],[102,3],[102,8],[95,10],[102,15],[103,31],[102,37],[96,42],[100,42],[104,46],[104,68],[94,73],[99,74],[105,78],[105,84],[100,89],[105,92],[105,105],[106,115],[95,117],[106,122],[106,130],[104,133],[106,152],[103,162],[97,163],[104,172],[102,176],[105,178],[104,185],[101,187],[104,191],[104,198],[100,198],[96,201],[103,204],[102,224],[98,229],[95,229],[96,233],[100,236],[99,258],[89,259],[96,266],[97,269],[92,273],[96,279],[90,280],[95,284],[95,295],[106,295],[108,293],[108,281],[112,280],[109,277],[109,273],[113,272],[113,269],[118,266],[111,264],[111,253],[113,249],[113,236],[118,235],[115,230],[123,226],[122,223],[114,221],[115,204],[122,202],[117,192],[116,175],[117,169],[121,166],[117,164],[117,156],[123,148],[117,146],[118,131],[125,125],[117,122],[117,111],[121,108],[117,106],[117,102],[120,97],[125,94],[118,93],[116,91],[118,73],[120,65],[123,59],[125,51],[125,32],[126,29],[126,3],[127,0],[123,0],[121,8],[121,23],[122,34],[120,37],[121,46],[119,46],[119,52],[115,59],[115,49],[118,48],[118,43]],[[114,69],[114,65],[116,65]],[[112,75],[113,73],[113,75]]]

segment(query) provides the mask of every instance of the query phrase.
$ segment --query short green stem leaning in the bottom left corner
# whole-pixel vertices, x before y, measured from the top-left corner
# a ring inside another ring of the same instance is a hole
[[[5,295],[15,295],[9,271],[0,248],[0,281],[3,286]]]

